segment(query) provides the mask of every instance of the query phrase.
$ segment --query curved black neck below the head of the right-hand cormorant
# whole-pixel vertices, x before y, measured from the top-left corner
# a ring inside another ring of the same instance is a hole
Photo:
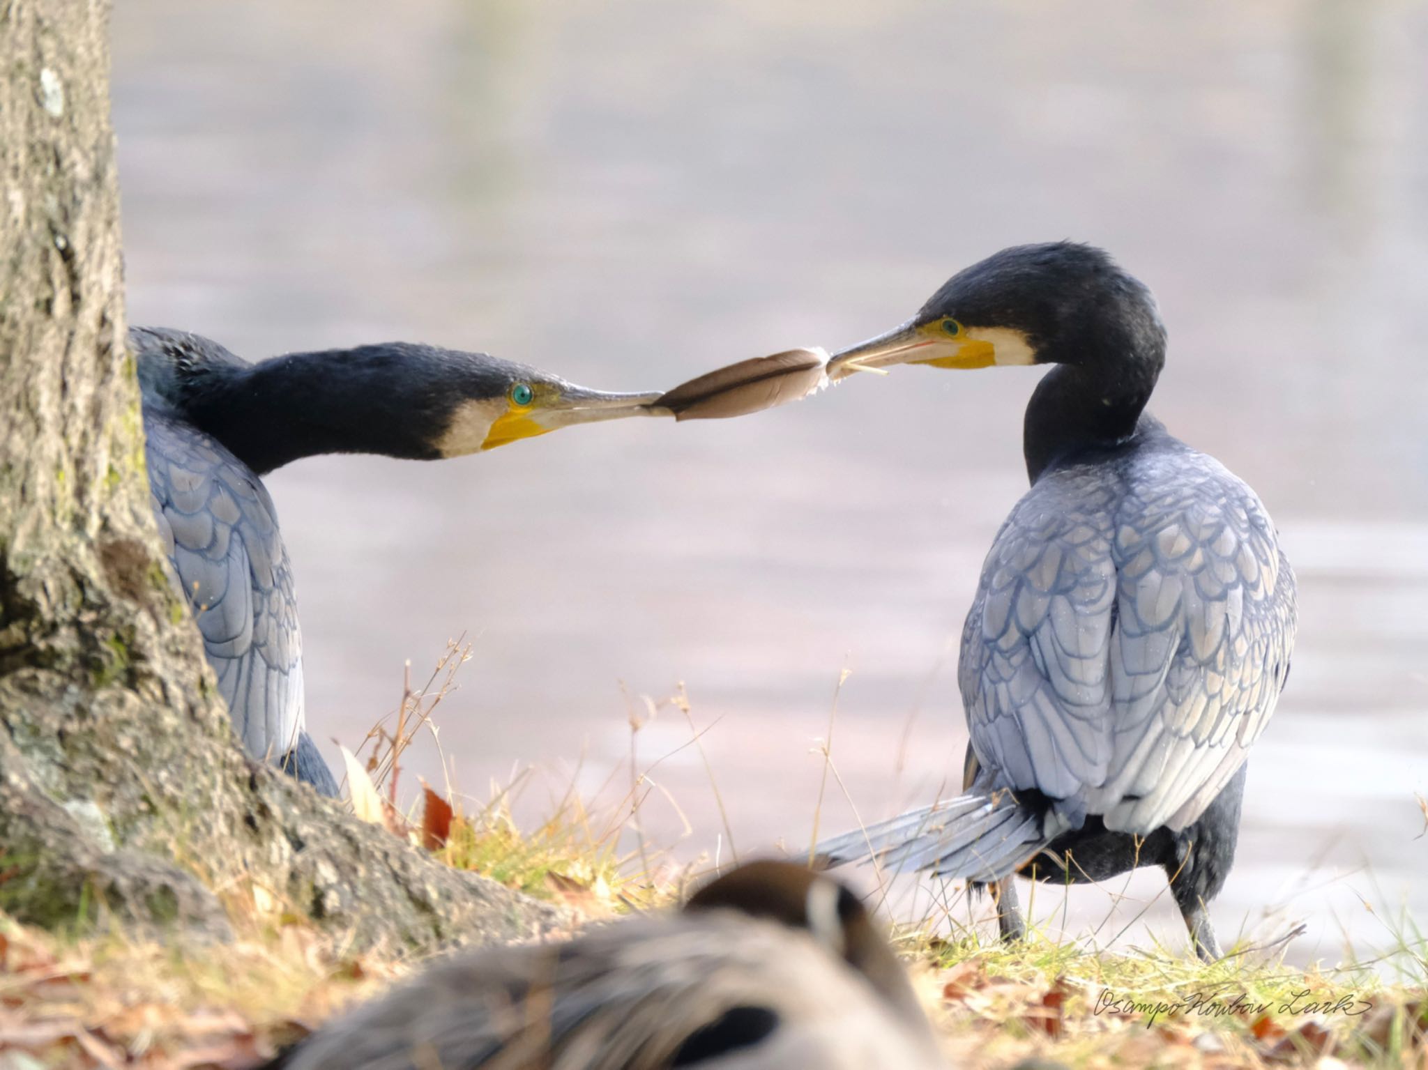
[[[1164,362],[1161,350],[1115,362],[1058,364],[1048,371],[1031,394],[1022,428],[1031,482],[1087,451],[1130,439]]]

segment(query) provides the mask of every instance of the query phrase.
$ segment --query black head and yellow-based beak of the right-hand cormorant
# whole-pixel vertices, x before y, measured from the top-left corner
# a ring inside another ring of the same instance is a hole
[[[1134,362],[1158,374],[1164,355],[1150,290],[1102,250],[1060,241],[1014,245],[958,271],[908,322],[835,354],[828,377],[892,364]]]

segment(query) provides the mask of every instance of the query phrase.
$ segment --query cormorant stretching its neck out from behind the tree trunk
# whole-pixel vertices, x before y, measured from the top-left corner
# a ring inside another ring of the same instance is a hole
[[[134,328],[154,516],[247,752],[324,795],[304,729],[293,569],[258,477],[316,454],[418,461],[560,427],[663,412],[483,352],[390,342],[248,364],[214,341]]]

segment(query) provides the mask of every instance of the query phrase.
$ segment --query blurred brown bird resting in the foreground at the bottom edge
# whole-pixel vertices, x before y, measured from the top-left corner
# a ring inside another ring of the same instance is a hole
[[[458,952],[267,1070],[945,1066],[901,963],[847,887],[741,866],[680,913],[568,943]]]

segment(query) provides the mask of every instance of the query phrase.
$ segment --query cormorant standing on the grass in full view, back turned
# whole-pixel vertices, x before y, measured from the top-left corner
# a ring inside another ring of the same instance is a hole
[[[954,275],[828,375],[1051,364],[1027,405],[1031,489],[962,631],[962,795],[820,845],[997,885],[1161,866],[1204,959],[1234,862],[1245,755],[1294,646],[1294,574],[1259,498],[1145,412],[1165,361],[1150,290],[1101,250],[1020,245]]]

